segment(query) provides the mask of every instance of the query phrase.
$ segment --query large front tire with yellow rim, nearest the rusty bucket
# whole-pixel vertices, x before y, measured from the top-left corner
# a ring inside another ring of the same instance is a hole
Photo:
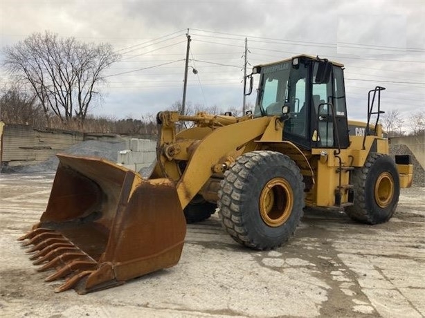
[[[274,151],[252,151],[237,158],[225,172],[218,196],[224,229],[255,250],[287,242],[305,205],[300,169]]]

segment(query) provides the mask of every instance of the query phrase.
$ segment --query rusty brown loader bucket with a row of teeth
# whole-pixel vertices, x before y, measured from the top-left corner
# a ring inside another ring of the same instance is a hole
[[[124,283],[179,262],[186,221],[174,184],[143,180],[107,160],[58,154],[46,212],[19,238],[46,281],[79,294]]]

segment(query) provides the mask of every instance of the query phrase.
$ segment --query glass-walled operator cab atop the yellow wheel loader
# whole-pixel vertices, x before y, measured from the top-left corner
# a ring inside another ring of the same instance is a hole
[[[255,66],[256,73],[260,74],[260,84],[254,116],[289,111],[284,140],[303,149],[349,146],[342,64],[298,55]]]

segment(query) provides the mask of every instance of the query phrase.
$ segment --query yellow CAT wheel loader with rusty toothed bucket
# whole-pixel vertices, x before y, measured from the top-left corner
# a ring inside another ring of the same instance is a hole
[[[388,156],[379,124],[381,86],[367,122],[347,120],[343,65],[308,55],[255,66],[253,112],[157,115],[157,162],[144,179],[101,158],[58,154],[39,223],[20,240],[30,259],[65,278],[57,292],[109,288],[178,263],[186,219],[218,208],[238,243],[269,250],[296,231],[304,207],[344,209],[355,221],[388,221],[410,187],[409,156]],[[181,122],[192,127],[178,131]]]

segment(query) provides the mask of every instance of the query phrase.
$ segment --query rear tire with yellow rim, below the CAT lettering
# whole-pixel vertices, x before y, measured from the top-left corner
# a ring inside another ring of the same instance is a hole
[[[354,205],[345,213],[354,221],[379,224],[388,221],[397,208],[400,181],[390,156],[370,153],[365,165],[352,172]]]

